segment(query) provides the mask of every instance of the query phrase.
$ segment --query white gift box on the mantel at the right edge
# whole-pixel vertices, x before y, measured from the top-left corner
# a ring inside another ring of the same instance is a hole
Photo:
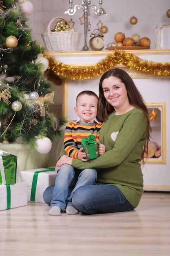
[[[155,49],[170,49],[170,23],[155,28]]]

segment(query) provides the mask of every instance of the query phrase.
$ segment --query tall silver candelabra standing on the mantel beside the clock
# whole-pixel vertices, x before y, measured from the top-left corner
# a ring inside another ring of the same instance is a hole
[[[107,15],[106,12],[104,12],[104,9],[102,8],[102,0],[99,0],[99,8],[97,9],[97,6],[92,4],[91,0],[82,0],[82,4],[75,4],[74,8],[72,7],[73,1],[69,0],[70,8],[65,11],[65,14],[74,15],[77,9],[82,9],[84,12],[84,15],[82,18],[84,18],[84,47],[82,48],[82,51],[88,51],[87,46],[87,28],[88,28],[88,16],[90,15],[90,9],[95,10],[95,14],[98,16],[101,15]]]

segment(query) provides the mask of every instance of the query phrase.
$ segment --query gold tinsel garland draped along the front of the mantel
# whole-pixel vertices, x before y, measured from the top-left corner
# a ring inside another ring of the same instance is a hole
[[[170,63],[162,64],[155,61],[146,61],[123,50],[115,50],[114,54],[108,54],[106,58],[88,67],[72,67],[56,61],[53,56],[46,56],[46,58],[49,60],[49,69],[46,71],[46,75],[50,81],[57,85],[61,84],[61,78],[71,80],[95,78],[117,64],[155,76],[170,76]]]

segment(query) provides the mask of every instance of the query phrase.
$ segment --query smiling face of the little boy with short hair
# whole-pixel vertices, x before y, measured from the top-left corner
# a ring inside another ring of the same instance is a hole
[[[75,114],[79,116],[84,122],[92,121],[97,115],[97,97],[93,95],[80,95],[74,108]]]

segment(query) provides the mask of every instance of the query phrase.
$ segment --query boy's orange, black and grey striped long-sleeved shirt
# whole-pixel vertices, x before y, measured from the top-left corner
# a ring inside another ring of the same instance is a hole
[[[76,121],[69,121],[66,124],[66,130],[64,133],[64,149],[68,157],[76,158],[79,153],[79,149],[82,148],[81,140],[89,135],[95,135],[95,140],[99,138],[99,132],[102,123],[94,119],[88,123],[85,123],[81,119]]]

